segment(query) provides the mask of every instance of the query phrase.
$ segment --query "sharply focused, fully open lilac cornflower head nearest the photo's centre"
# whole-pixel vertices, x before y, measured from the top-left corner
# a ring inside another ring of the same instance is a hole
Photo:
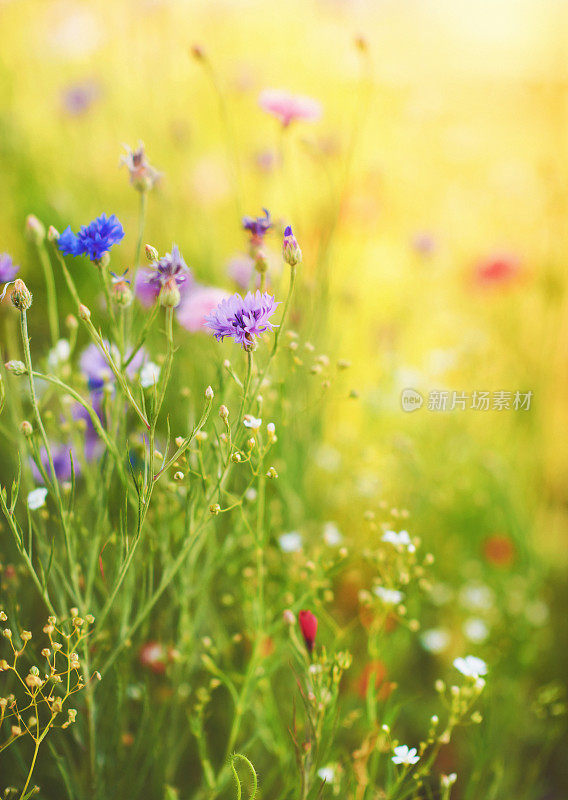
[[[222,300],[217,308],[205,317],[205,325],[217,340],[232,336],[244,350],[254,346],[255,336],[271,331],[275,326],[269,321],[276,306],[268,292],[247,292],[245,297],[234,294]]]

